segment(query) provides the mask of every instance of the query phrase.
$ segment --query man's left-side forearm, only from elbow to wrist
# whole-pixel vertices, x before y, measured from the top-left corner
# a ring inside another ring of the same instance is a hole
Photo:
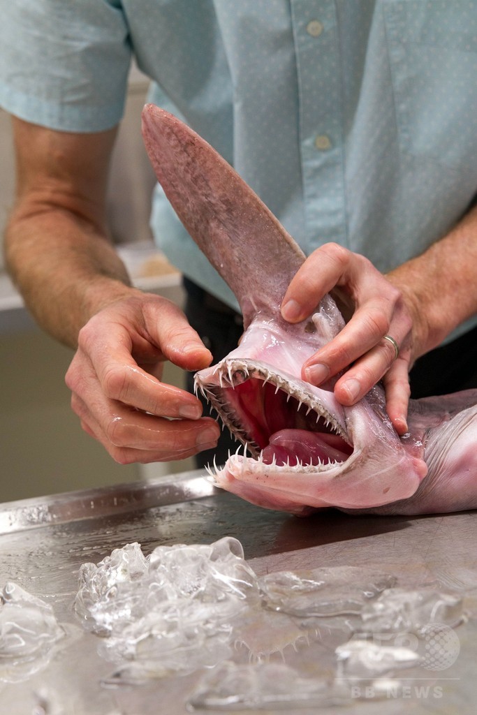
[[[36,321],[70,347],[92,315],[132,291],[100,227],[62,208],[17,206],[5,250],[8,270]]]

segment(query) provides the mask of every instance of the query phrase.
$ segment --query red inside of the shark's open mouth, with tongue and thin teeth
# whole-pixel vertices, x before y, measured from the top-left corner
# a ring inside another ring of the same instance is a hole
[[[217,383],[196,383],[222,422],[262,464],[317,468],[348,460],[353,444],[343,426],[302,381],[275,370],[220,363]]]

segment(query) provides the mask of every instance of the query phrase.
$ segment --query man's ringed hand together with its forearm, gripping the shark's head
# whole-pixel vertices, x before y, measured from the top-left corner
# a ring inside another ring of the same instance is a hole
[[[339,245],[315,250],[290,282],[282,315],[290,322],[304,320],[323,295],[332,292],[342,310],[348,307],[348,322],[305,362],[303,378],[320,385],[344,370],[335,384],[343,405],[355,404],[382,380],[390,420],[398,434],[404,434],[408,371],[477,312],[476,236],[474,208],[448,235],[387,275]]]

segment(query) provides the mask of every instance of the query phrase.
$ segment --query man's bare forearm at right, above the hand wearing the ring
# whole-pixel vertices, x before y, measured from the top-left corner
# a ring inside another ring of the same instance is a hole
[[[387,277],[413,312],[415,360],[477,312],[477,209]]]

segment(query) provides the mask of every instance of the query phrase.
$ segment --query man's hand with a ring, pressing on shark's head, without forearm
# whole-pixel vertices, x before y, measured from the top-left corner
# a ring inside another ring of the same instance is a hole
[[[304,320],[333,289],[348,303],[352,317],[334,340],[308,358],[303,378],[320,385],[344,370],[335,384],[343,405],[355,404],[382,379],[390,420],[402,435],[407,431],[408,372],[422,352],[412,330],[418,318],[393,282],[365,257],[337,244],[326,244],[305,260],[285,294],[283,317]],[[385,335],[395,340],[398,355]]]

